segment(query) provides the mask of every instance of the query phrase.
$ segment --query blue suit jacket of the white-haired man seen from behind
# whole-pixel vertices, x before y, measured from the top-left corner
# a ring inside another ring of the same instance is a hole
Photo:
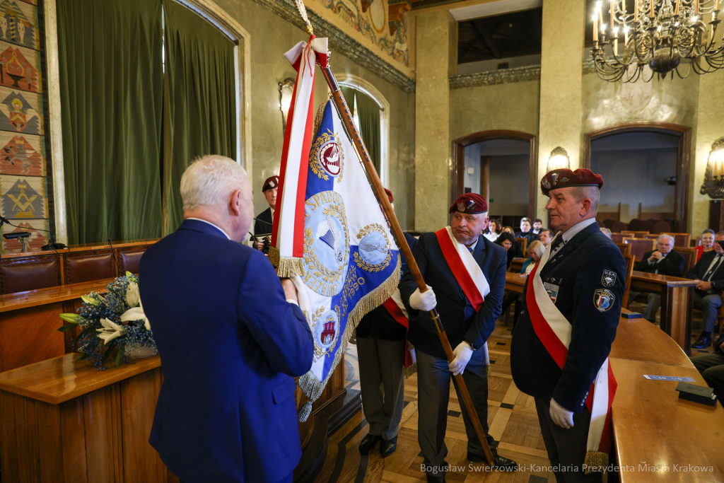
[[[164,382],[149,442],[185,483],[278,482],[301,456],[311,331],[259,251],[185,220],[140,261]]]

